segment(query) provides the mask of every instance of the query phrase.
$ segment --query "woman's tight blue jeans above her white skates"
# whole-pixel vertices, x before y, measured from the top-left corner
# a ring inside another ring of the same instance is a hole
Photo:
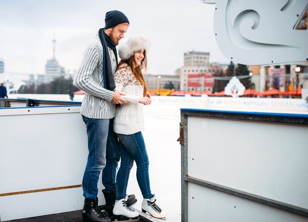
[[[117,175],[117,200],[126,196],[130,170],[134,161],[137,165],[137,181],[143,198],[153,195],[149,179],[149,157],[141,132],[132,135],[117,134],[119,138],[121,166]]]

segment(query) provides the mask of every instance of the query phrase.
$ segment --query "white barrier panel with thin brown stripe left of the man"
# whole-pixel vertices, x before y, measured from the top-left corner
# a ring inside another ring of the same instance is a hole
[[[80,106],[0,109],[1,222],[83,208],[88,145],[79,111]],[[105,204],[102,192],[98,198]]]

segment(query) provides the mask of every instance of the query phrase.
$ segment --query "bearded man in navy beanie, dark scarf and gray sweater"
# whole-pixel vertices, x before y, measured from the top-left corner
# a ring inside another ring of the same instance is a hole
[[[83,222],[110,222],[113,219],[116,168],[120,160],[113,120],[115,104],[127,103],[122,97],[124,93],[114,91],[114,74],[118,65],[116,45],[124,37],[128,27],[129,21],[122,12],[107,12],[105,28],[98,31],[86,48],[73,80],[74,86],[85,91],[80,113],[87,126],[89,155],[82,182],[85,197]],[[101,214],[97,209],[97,182],[101,171],[108,215]],[[126,204],[131,206],[136,201],[134,195],[131,195]]]

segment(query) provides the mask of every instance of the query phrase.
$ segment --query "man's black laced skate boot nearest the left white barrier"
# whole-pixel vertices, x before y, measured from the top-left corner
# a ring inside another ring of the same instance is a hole
[[[85,205],[82,211],[82,222],[111,222],[111,219],[105,217],[97,209],[98,198],[85,199]]]

